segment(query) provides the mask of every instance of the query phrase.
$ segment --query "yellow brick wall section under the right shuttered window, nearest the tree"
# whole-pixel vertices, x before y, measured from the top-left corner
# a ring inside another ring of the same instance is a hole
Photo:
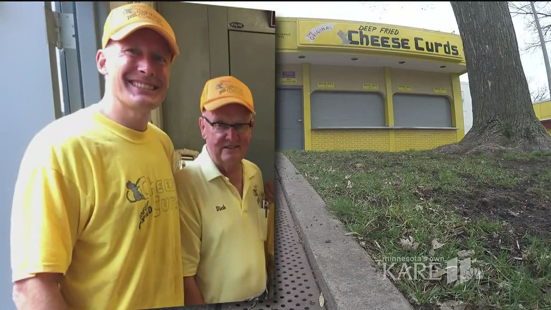
[[[396,151],[431,149],[457,142],[456,131],[446,129],[396,129],[394,137]]]

